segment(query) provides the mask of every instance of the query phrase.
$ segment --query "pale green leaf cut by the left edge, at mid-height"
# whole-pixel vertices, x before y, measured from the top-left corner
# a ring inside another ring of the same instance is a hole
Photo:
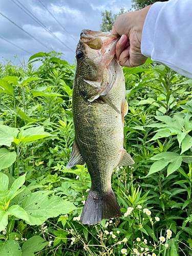
[[[18,134],[18,129],[0,124],[0,145],[11,146],[11,142]]]

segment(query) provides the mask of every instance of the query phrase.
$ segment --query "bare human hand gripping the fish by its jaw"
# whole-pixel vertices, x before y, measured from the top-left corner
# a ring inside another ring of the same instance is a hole
[[[127,12],[115,20],[112,34],[119,34],[116,57],[119,64],[124,67],[136,67],[144,64],[147,57],[141,53],[141,37],[143,25],[150,6],[139,11]]]

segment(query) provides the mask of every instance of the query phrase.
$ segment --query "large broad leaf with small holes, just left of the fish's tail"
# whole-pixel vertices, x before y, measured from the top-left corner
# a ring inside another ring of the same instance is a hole
[[[57,217],[59,214],[69,214],[76,207],[58,196],[48,197],[53,191],[36,191],[29,195],[23,208],[27,211],[31,225],[41,225],[48,218]]]

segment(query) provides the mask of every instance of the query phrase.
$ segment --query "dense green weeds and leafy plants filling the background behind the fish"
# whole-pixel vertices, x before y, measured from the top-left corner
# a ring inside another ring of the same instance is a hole
[[[192,81],[151,60],[123,68],[124,148],[135,164],[112,175],[122,217],[81,225],[91,179],[85,165],[66,169],[75,67],[60,56],[0,66],[0,254],[191,256]]]

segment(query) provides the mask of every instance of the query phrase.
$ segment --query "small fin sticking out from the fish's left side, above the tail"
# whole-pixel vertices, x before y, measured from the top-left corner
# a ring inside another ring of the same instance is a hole
[[[69,163],[68,163],[66,169],[69,169],[69,168],[71,168],[71,167],[73,167],[77,164],[83,165],[83,164],[85,164],[85,162],[82,159],[81,153],[80,153],[79,148],[77,146],[76,139],[74,139],[71,158],[69,160]]]

